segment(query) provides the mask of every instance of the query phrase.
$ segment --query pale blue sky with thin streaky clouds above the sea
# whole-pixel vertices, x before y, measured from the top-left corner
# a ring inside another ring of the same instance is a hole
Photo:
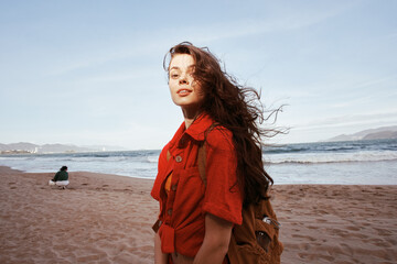
[[[397,1],[0,0],[0,143],[159,150],[183,121],[163,58],[192,42],[283,106],[271,143],[397,124]]]

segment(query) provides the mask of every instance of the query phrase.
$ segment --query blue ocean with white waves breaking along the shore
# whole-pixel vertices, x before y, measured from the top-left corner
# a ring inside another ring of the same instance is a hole
[[[0,155],[0,165],[28,173],[94,172],[154,178],[160,150]],[[397,140],[267,146],[265,168],[275,185],[397,185]]]

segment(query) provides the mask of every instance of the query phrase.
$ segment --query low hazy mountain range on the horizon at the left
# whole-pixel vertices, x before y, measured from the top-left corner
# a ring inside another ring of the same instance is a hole
[[[19,142],[11,144],[0,143],[0,153],[73,153],[73,152],[99,152],[99,151],[122,151],[125,148],[117,146],[76,146],[64,144],[44,144],[36,145],[28,142]]]

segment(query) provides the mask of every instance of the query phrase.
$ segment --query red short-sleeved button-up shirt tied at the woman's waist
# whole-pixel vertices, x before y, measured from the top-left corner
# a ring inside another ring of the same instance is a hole
[[[160,202],[159,234],[163,253],[178,252],[194,257],[204,240],[205,213],[242,224],[243,199],[230,131],[215,127],[207,133],[206,186],[198,173],[198,146],[213,122],[207,114],[200,116],[187,130],[183,122],[160,154],[151,195]],[[164,185],[171,173],[171,191],[167,195]]]

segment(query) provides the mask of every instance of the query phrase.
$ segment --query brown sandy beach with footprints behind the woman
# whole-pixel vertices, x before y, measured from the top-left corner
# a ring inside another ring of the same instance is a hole
[[[54,172],[55,173],[55,172]],[[153,180],[0,167],[0,263],[153,263]],[[397,186],[280,185],[282,263],[396,263]]]

